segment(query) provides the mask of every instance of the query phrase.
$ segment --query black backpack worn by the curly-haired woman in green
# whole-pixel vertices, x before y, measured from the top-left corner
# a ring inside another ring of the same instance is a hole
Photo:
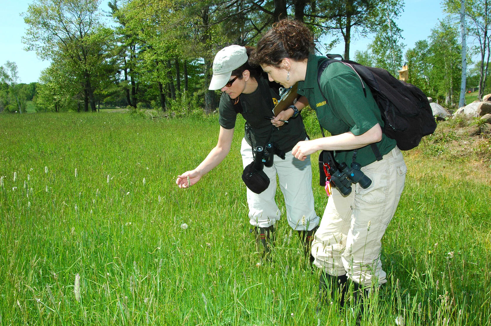
[[[319,89],[321,74],[329,64],[342,62],[351,67],[356,75],[368,85],[379,105],[385,124],[382,132],[395,139],[399,149],[410,150],[415,148],[423,136],[430,135],[435,131],[436,121],[430,102],[419,88],[396,79],[385,69],[367,67],[354,61],[343,60],[339,54],[327,54],[327,57],[329,59],[323,61],[319,66],[317,75]],[[341,58],[341,60],[334,59],[336,57]],[[361,84],[366,97],[365,86],[363,83]],[[324,98],[326,97],[324,96]],[[380,156],[380,153],[377,156]]]

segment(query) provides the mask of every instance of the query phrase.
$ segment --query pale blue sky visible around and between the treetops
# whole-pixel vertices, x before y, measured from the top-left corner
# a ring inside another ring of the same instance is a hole
[[[50,63],[38,59],[34,51],[24,50],[22,36],[25,35],[27,26],[20,13],[27,10],[32,0],[0,1],[2,9],[0,65],[5,64],[7,60],[14,61],[19,69],[19,77],[22,82],[37,81],[41,71]],[[406,44],[404,52],[412,48],[416,41],[427,39],[431,34],[431,29],[438,23],[438,19],[441,20],[444,16],[440,0],[405,0],[404,12],[397,22],[403,29],[403,43]],[[350,55],[353,56],[355,50],[366,50],[370,42],[370,39],[352,40]],[[330,52],[343,54],[344,45],[341,44]]]

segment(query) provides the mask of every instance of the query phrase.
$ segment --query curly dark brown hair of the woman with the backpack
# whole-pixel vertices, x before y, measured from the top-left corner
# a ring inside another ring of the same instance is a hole
[[[282,19],[273,24],[257,43],[249,61],[279,68],[281,60],[304,60],[314,50],[314,36],[300,21]]]

